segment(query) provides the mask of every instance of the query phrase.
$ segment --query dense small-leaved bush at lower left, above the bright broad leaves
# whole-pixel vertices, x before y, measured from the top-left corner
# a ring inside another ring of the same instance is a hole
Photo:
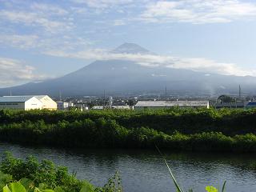
[[[82,181],[68,174],[66,167],[55,166],[49,160],[38,162],[36,158],[31,156],[23,161],[7,153],[1,162],[0,170],[5,174],[12,175],[16,181],[22,179],[21,182],[25,186],[39,186],[44,183],[42,188],[54,189],[57,186],[62,186],[65,191],[79,191],[83,186]],[[34,184],[30,183],[30,180]]]

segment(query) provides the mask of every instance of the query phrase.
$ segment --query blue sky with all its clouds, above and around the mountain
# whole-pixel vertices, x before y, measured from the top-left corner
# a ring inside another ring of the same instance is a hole
[[[96,59],[256,76],[254,0],[0,0],[0,87]],[[158,55],[113,54],[134,42]]]

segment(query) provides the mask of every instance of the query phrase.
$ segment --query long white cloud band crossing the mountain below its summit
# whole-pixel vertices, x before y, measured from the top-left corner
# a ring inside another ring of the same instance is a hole
[[[84,50],[67,53],[62,50],[50,50],[45,54],[66,58],[82,58],[86,60],[127,60],[137,62],[138,65],[149,67],[170,67],[200,71],[209,74],[226,74],[238,76],[256,76],[256,70],[246,70],[234,63],[216,62],[207,58],[178,58],[156,54],[114,54],[106,50]]]

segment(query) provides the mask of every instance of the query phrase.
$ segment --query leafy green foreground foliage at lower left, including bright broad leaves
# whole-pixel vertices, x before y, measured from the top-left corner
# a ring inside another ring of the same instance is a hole
[[[122,192],[118,172],[105,186],[95,187],[69,174],[66,167],[55,166],[49,160],[38,162],[31,156],[22,160],[6,153],[0,170],[0,187],[4,192]]]

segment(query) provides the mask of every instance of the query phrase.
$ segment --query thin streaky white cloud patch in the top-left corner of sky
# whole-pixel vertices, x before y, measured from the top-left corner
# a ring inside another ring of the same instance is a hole
[[[4,6],[3,6],[4,7]],[[38,2],[12,2],[12,6],[0,9],[0,24],[11,27],[11,24],[26,26],[29,30],[40,33],[57,33],[70,30],[73,23],[69,20],[69,11],[61,6]],[[14,25],[13,25],[14,26]]]

